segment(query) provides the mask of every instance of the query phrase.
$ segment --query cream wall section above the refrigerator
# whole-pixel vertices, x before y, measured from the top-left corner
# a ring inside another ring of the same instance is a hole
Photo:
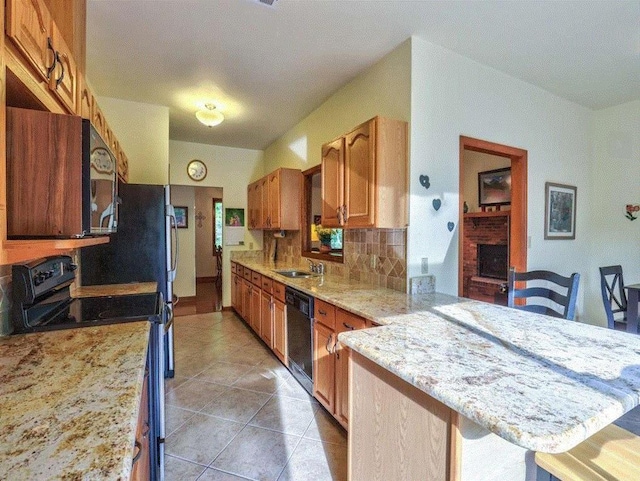
[[[129,159],[129,182],[169,183],[169,107],[98,97]]]

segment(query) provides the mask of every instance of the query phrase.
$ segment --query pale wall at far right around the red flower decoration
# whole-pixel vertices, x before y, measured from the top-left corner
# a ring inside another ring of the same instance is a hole
[[[594,294],[586,299],[585,307],[589,320],[597,319],[604,325],[602,299],[596,295],[600,289],[598,267],[620,264],[627,284],[640,282],[640,219],[630,221],[624,216],[627,204],[640,204],[640,100],[594,112],[591,137],[592,275],[585,284]]]

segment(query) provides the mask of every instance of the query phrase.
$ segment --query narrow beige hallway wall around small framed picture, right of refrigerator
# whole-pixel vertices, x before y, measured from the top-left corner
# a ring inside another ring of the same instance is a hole
[[[196,295],[196,195],[192,186],[172,185],[171,204],[188,207],[186,229],[178,229],[178,269],[173,292],[178,297]]]

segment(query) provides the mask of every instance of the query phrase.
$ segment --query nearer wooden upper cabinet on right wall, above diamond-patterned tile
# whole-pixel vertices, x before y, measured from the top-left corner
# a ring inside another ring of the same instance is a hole
[[[322,147],[322,225],[402,228],[407,123],[375,117]]]

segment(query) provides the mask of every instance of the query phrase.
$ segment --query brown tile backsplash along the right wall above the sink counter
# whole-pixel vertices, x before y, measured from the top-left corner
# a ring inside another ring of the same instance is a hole
[[[287,231],[284,238],[264,232],[264,259],[269,260],[277,243],[276,259],[286,265],[306,267],[299,231]],[[406,229],[346,229],[344,263],[325,262],[328,275],[341,276],[400,292],[407,290]]]

